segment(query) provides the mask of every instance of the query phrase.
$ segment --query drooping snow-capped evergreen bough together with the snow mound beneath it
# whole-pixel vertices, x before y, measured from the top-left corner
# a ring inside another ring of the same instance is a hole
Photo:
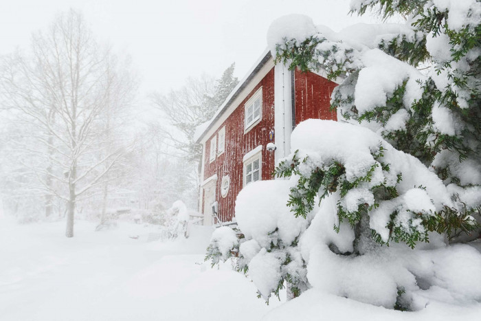
[[[315,213],[300,238],[310,285],[397,309],[421,309],[440,300],[439,293],[458,302],[481,300],[481,278],[456,279],[461,269],[469,273],[481,263],[481,254],[467,246],[444,248],[443,237],[432,233],[476,228],[435,173],[353,124],[308,120],[291,140],[297,151],[276,171],[294,182],[288,201],[293,214]],[[419,241],[438,250],[410,252]],[[456,267],[447,267],[449,260],[457,260]]]

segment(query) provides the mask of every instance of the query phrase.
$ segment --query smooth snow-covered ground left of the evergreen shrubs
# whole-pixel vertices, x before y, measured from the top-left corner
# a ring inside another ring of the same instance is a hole
[[[230,265],[204,263],[210,228],[147,242],[155,228],[76,222],[16,225],[0,217],[0,320],[260,320],[270,305]],[[139,239],[128,236],[139,235]]]

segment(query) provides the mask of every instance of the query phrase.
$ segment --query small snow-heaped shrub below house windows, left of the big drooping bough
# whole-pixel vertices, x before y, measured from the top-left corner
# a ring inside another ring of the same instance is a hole
[[[219,228],[212,235],[206,256],[214,265],[230,258],[232,248],[238,250],[238,270],[249,274],[265,300],[271,293],[278,296],[285,280],[293,296],[308,287],[298,243],[310,217],[294,217],[289,211],[286,203],[292,187],[292,181],[284,180],[258,181],[243,188],[235,212],[244,238],[235,242],[232,229]]]

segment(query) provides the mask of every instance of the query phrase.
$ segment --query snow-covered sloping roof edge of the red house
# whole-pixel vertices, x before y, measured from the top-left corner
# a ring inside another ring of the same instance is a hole
[[[232,89],[231,93],[223,104],[221,104],[221,107],[216,111],[214,116],[208,121],[204,122],[203,124],[200,124],[197,126],[197,129],[194,133],[194,140],[195,142],[199,143],[202,139],[202,137],[209,131],[209,129],[214,126],[216,120],[219,120],[221,118],[221,115],[227,111],[227,109],[231,106],[232,102],[237,98],[237,96],[240,95],[240,93],[245,89],[245,87],[249,84],[249,82],[256,76],[256,74],[260,71],[260,69],[269,61],[269,59],[272,57],[272,54],[269,50],[269,48],[265,49],[264,52],[262,52],[262,55],[256,60],[256,63],[252,65],[252,67],[249,69],[247,74],[244,76],[242,80],[237,84],[237,86]]]

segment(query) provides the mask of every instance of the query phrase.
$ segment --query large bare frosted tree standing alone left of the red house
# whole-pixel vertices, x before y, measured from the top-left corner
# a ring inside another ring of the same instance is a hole
[[[113,109],[131,101],[135,89],[122,81],[112,58],[111,49],[96,43],[82,14],[70,10],[47,32],[34,34],[30,55],[3,59],[5,101],[21,111],[19,119],[34,142],[19,148],[41,158],[21,162],[31,168],[36,189],[45,192],[46,214],[52,197],[67,202],[67,237],[74,236],[76,203],[115,179],[108,174],[128,149],[112,143],[112,124],[102,124]]]

